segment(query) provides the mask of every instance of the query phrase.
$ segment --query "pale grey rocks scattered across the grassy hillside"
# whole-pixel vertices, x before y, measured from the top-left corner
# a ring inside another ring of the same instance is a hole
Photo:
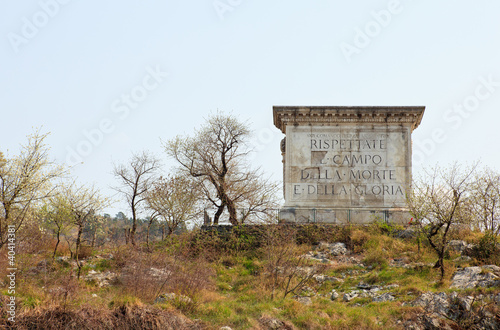
[[[461,253],[462,260],[468,260],[468,251],[472,246],[464,241],[450,242],[450,248]],[[112,256],[107,256],[112,258]],[[361,255],[349,251],[344,243],[324,243],[321,242],[314,250],[309,251],[305,258],[314,260],[322,264],[334,264],[346,267],[346,271],[339,274],[339,277],[328,276],[326,274],[313,274],[312,278],[318,286],[326,282],[342,284],[346,279],[353,279],[368,274],[373,267],[365,265],[361,260]],[[93,259],[84,261],[92,267],[95,261],[103,257],[97,256]],[[65,258],[59,258],[59,262],[68,262]],[[352,269],[353,266],[356,269]],[[418,269],[422,267],[432,267],[433,264],[412,263],[407,258],[395,258],[389,260],[390,267]],[[37,265],[38,268],[43,265]],[[299,270],[303,273],[312,273],[313,267],[305,267]],[[159,279],[168,276],[164,270],[151,268],[149,270],[152,276]],[[85,281],[93,283],[98,287],[112,285],[120,277],[111,271],[88,271],[84,277]],[[332,301],[342,301],[349,303],[356,298],[369,298],[372,303],[381,303],[387,301],[401,300],[403,305],[422,307],[422,313],[416,320],[401,322],[400,325],[405,329],[452,329],[448,321],[459,321],[467,319],[472,329],[500,329],[500,315],[490,313],[486,308],[473,308],[473,306],[487,306],[491,304],[500,305],[500,293],[497,294],[476,294],[474,289],[492,288],[500,286],[500,267],[496,265],[484,265],[474,267],[458,268],[451,278],[451,292],[433,292],[427,291],[414,296],[412,292],[405,296],[398,291],[398,284],[374,285],[360,280],[356,286],[344,288],[342,290],[333,289],[329,294],[319,294],[314,285],[305,286],[299,295],[294,299],[304,305],[310,305],[318,297],[327,296]],[[409,300],[408,298],[411,297]],[[186,296],[176,296],[175,293],[166,292],[160,294],[155,303],[165,301],[187,301],[191,299]],[[366,301],[366,300],[364,300]],[[353,306],[362,306],[354,304]],[[263,317],[259,320],[264,328],[268,329],[292,329],[293,326],[278,319]],[[220,328],[229,330],[230,327]]]

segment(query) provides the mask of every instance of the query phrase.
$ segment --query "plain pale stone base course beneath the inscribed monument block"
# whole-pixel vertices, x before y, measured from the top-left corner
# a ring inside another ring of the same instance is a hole
[[[368,224],[375,221],[405,225],[410,222],[411,215],[406,209],[327,209],[327,208],[294,208],[285,207],[279,212],[282,222],[295,223],[357,223]]]

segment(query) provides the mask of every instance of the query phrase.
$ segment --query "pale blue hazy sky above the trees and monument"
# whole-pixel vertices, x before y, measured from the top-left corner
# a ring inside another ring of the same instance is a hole
[[[232,111],[281,180],[273,105],[423,105],[414,172],[500,170],[499,17],[496,0],[0,0],[0,150],[42,127],[111,196],[113,163]]]

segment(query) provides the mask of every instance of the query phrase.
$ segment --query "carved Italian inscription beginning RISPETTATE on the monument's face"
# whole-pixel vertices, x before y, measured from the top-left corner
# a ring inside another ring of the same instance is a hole
[[[294,200],[368,200],[384,204],[404,202],[405,164],[401,132],[297,132],[309,161],[296,164],[291,176]],[[306,147],[307,141],[307,147]]]

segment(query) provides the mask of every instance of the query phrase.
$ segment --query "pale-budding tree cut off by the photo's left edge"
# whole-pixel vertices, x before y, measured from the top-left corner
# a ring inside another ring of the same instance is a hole
[[[19,156],[9,159],[0,153],[0,248],[9,226],[17,232],[33,207],[53,195],[53,181],[66,172],[49,159],[47,135],[40,130],[29,135]]]

